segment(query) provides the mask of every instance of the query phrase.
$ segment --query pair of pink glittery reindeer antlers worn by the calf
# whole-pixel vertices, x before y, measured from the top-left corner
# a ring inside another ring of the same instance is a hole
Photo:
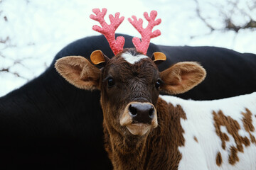
[[[107,38],[107,41],[110,44],[112,51],[114,52],[114,55],[117,55],[119,52],[122,52],[124,47],[124,37],[122,36],[117,37],[117,40],[116,40],[114,36],[114,32],[120,26],[122,21],[124,21],[124,16],[119,18],[120,13],[115,13],[115,16],[110,15],[109,16],[110,25],[108,25],[104,19],[107,13],[106,8],[102,8],[102,11],[100,11],[99,8],[95,8],[92,10],[92,12],[95,13],[96,16],[90,15],[90,18],[92,18],[95,21],[98,21],[102,26],[102,28],[100,28],[100,26],[93,26],[92,29],[99,33],[102,33],[102,35],[105,35],[105,37]],[[132,18],[134,19],[133,21],[131,18],[128,18],[128,21],[132,23],[132,26],[134,26],[134,28],[136,28],[139,31],[139,33],[142,35],[142,40],[140,40],[139,38],[133,38],[132,42],[136,47],[136,50],[138,52],[142,52],[142,54],[144,55],[146,55],[146,51],[149,48],[150,39],[161,35],[160,30],[154,30],[152,32],[154,26],[157,26],[161,23],[160,18],[155,20],[156,16],[157,16],[156,11],[151,11],[150,16],[148,15],[148,13],[146,12],[144,13],[144,17],[146,18],[146,21],[149,21],[148,26],[146,26],[146,28],[142,28],[143,21],[141,18],[137,20],[136,16],[132,16]]]

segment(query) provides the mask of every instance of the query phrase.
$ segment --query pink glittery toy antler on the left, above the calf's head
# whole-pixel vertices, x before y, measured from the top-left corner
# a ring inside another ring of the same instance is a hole
[[[98,21],[102,26],[102,28],[100,28],[100,26],[95,25],[92,27],[92,29],[105,35],[112,51],[114,52],[114,55],[122,52],[124,47],[124,37],[117,37],[117,40],[115,40],[114,32],[117,30],[122,21],[124,21],[124,16],[119,18],[120,13],[115,13],[115,16],[110,15],[110,25],[108,25],[104,19],[104,16],[107,13],[106,8],[102,8],[102,12],[100,12],[99,8],[94,8],[92,9],[92,12],[94,12],[96,16],[90,15],[90,18]]]

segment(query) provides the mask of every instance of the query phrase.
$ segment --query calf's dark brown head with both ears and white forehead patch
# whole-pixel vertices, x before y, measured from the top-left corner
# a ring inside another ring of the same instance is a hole
[[[77,56],[63,57],[55,67],[80,89],[100,89],[107,130],[142,136],[157,126],[159,91],[181,94],[206,76],[196,62],[180,62],[159,72],[156,64],[165,59],[161,52],[154,53],[151,59],[134,49],[126,49],[109,59],[98,50],[92,52],[91,60],[102,65],[102,69]]]

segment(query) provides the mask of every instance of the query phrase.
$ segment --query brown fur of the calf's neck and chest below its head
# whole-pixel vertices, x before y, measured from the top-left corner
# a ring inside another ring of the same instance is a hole
[[[105,147],[114,169],[178,169],[178,147],[185,144],[181,118],[186,119],[186,114],[181,106],[160,98],[156,109],[159,126],[143,137],[122,136],[104,126]]]

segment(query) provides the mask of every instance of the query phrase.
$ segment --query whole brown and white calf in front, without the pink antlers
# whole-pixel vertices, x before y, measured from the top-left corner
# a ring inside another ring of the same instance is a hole
[[[100,89],[114,169],[256,169],[256,93],[217,101],[159,96],[186,92],[206,77],[196,62],[159,72],[164,57],[126,49],[112,59],[92,52],[102,69],[77,56],[55,64],[78,88]]]

